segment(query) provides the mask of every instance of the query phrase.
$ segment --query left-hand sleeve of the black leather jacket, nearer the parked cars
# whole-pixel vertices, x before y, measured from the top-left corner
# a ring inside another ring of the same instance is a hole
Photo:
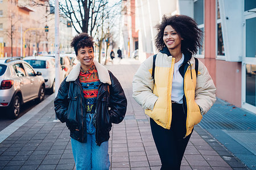
[[[63,80],[63,82],[61,82],[58,94],[54,100],[56,116],[62,123],[66,122],[68,113],[69,82],[67,82],[66,79],[67,77]]]

